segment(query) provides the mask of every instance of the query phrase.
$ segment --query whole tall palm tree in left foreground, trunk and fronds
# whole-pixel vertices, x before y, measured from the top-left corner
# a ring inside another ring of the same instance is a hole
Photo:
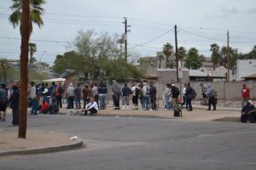
[[[13,0],[13,5],[10,7],[14,12],[9,16],[9,22],[14,27],[20,25],[21,34],[19,138],[26,138],[28,42],[32,34],[32,23],[39,27],[44,25],[41,18],[41,14],[44,12],[41,5],[44,3],[44,0]]]

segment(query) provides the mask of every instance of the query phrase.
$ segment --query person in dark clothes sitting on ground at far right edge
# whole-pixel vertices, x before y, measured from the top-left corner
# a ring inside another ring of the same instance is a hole
[[[249,119],[252,120],[253,122],[255,121],[255,113],[256,113],[256,108],[253,105],[253,102],[251,100],[247,101],[247,105],[243,106],[241,109],[241,122],[247,122]]]

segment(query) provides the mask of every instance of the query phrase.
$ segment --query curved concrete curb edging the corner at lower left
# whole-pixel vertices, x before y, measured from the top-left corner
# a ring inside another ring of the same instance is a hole
[[[51,153],[63,150],[73,150],[78,149],[83,146],[83,140],[79,140],[74,144],[63,144],[58,146],[42,147],[42,148],[33,148],[26,150],[7,150],[0,151],[0,156],[14,156],[14,155],[29,155],[29,154],[42,154],[42,153]]]

